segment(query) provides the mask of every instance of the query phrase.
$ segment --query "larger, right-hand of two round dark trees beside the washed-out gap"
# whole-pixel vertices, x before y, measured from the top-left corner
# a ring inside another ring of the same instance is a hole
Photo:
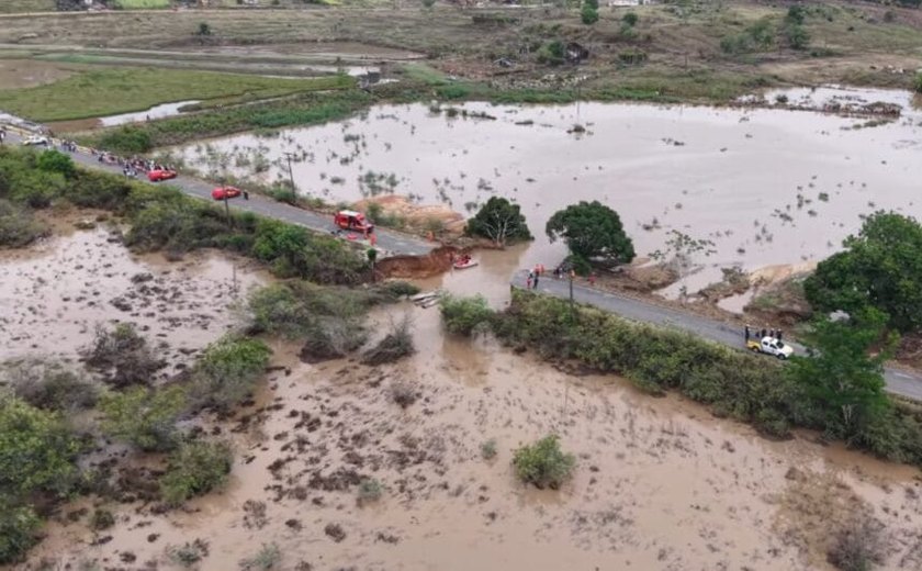
[[[548,221],[546,232],[551,242],[563,238],[571,253],[587,260],[627,264],[636,256],[621,217],[598,201],[581,201],[558,211]]]

